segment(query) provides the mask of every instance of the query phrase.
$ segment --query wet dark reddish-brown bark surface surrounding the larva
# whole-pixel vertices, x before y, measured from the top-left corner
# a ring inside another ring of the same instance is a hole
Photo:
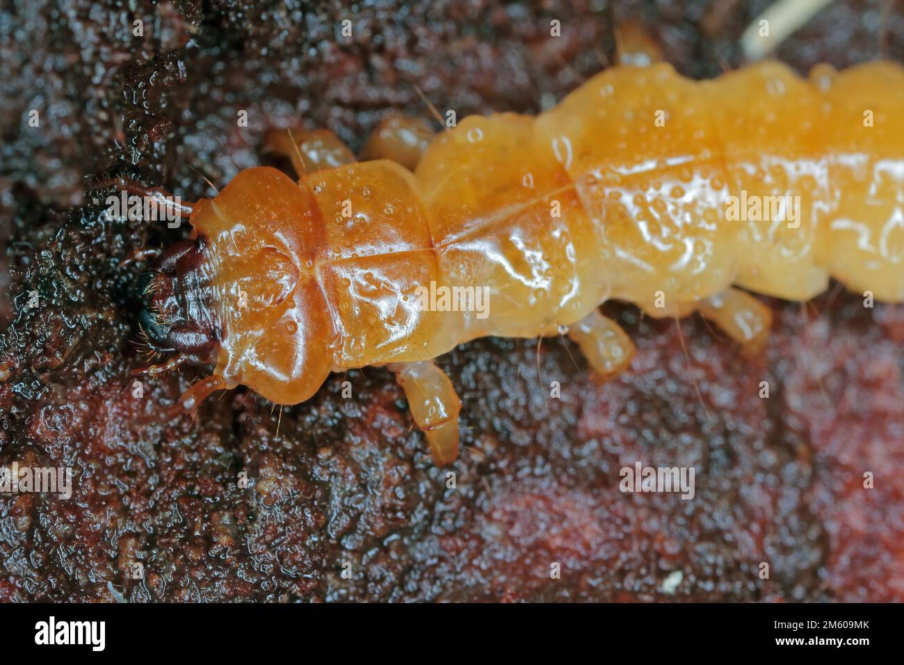
[[[0,8],[0,464],[76,475],[69,501],[0,496],[0,600],[904,598],[904,308],[864,309],[841,290],[774,301],[754,362],[699,317],[679,334],[609,306],[636,341],[632,371],[600,385],[576,348],[548,339],[541,378],[561,382],[560,400],[543,399],[536,340],[457,348],[439,361],[464,402],[455,490],[381,369],[348,376],[352,400],[331,377],[284,410],[278,437],[278,413],[243,389],[193,422],[137,424],[201,370],[132,397],[147,266],[118,261],[187,229],[104,222],[89,182],[116,173],[210,195],[203,177],[222,185],[259,163],[268,128],[304,119],[357,148],[390,109],[428,118],[415,85],[459,118],[535,112],[611,59],[613,31],[605,0],[185,0],[135,3],[139,39],[132,5]],[[741,64],[739,35],[767,5],[616,9],[702,77]],[[842,67],[884,42],[904,60],[904,3],[885,5],[883,19],[878,0],[837,2],[778,55]],[[39,309],[24,308],[28,290]],[[618,469],[636,460],[695,466],[696,498],[620,493]],[[866,470],[875,489],[862,489]],[[128,578],[136,561],[144,581]]]

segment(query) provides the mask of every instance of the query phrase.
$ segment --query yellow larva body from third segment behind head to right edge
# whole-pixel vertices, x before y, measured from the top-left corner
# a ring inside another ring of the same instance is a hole
[[[614,68],[538,120],[570,146],[615,264],[613,297],[662,316],[732,282],[809,299],[832,275],[904,298],[904,73],[880,62],[815,81],[777,62],[696,83],[664,63]],[[881,128],[864,127],[865,109]],[[799,197],[797,219],[731,220],[729,197]],[[650,307],[660,289],[667,307]]]

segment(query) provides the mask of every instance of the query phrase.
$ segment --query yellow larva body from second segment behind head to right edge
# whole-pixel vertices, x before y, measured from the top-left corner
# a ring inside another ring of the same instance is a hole
[[[481,334],[548,332],[606,296],[682,314],[731,283],[809,299],[833,276],[899,301],[902,111],[890,62],[612,68],[537,119],[465,119],[417,176],[447,279],[493,290]]]

